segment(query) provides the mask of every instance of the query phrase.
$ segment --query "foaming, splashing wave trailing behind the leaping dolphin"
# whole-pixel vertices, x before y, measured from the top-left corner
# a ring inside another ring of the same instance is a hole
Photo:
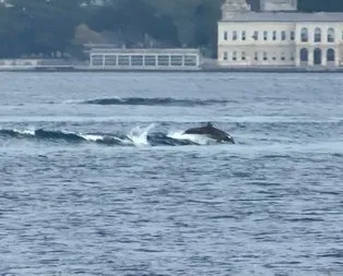
[[[64,143],[96,143],[102,145],[119,146],[182,146],[209,145],[215,142],[206,136],[182,134],[182,131],[173,133],[152,132],[154,124],[145,128],[135,127],[129,133],[73,133],[60,130],[7,130],[0,129],[0,140],[17,139],[36,142]]]

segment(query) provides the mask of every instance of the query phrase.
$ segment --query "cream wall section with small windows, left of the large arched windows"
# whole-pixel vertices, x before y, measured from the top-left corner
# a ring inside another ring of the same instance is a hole
[[[295,65],[295,23],[223,22],[218,26],[221,65]]]

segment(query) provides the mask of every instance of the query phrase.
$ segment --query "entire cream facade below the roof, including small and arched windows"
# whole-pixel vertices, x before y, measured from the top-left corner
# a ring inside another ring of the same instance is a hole
[[[343,65],[343,21],[220,22],[218,63],[222,67]]]

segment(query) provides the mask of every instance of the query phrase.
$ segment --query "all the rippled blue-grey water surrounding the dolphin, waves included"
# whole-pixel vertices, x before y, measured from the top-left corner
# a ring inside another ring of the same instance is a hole
[[[0,77],[0,275],[342,275],[343,75]]]

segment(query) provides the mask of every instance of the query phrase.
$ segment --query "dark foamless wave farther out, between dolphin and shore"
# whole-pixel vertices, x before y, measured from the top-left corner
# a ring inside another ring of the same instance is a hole
[[[176,98],[143,98],[143,97],[129,97],[129,98],[97,98],[82,101],[86,105],[128,105],[128,106],[206,106],[206,105],[225,105],[232,103],[227,99],[176,99]]]

